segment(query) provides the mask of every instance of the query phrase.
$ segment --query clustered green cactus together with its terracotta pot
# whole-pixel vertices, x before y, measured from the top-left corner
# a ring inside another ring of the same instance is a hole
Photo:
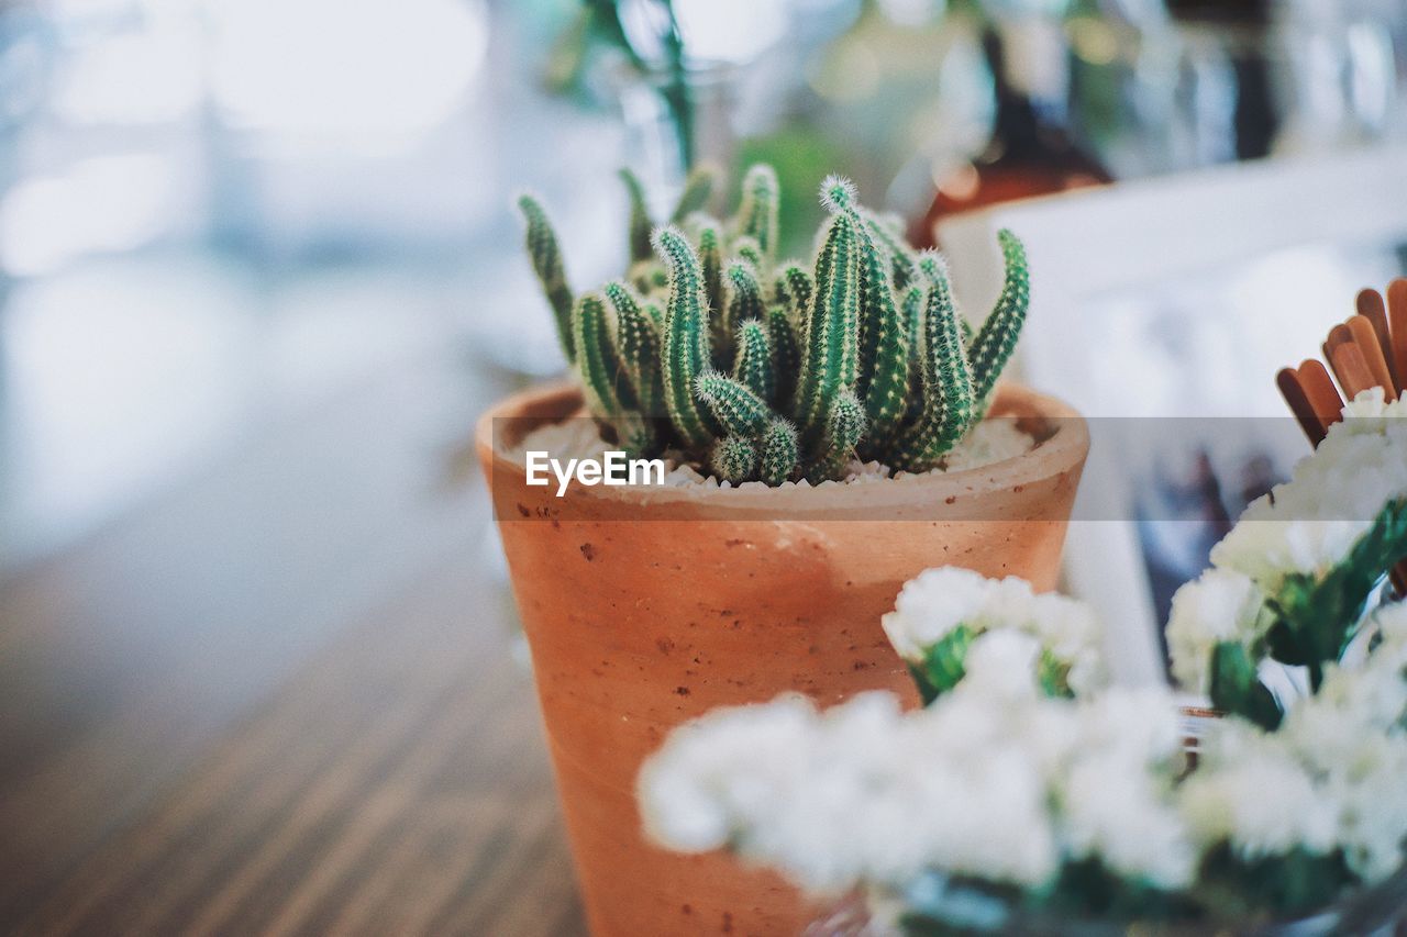
[[[726,222],[702,214],[706,170],[658,227],[625,180],[630,266],[580,295],[542,205],[519,200],[578,380],[487,414],[480,459],[592,933],[798,933],[813,909],[779,877],[644,840],[642,761],[681,722],[781,691],[916,705],[879,615],[936,564],[1052,588],[1089,439],[1058,401],[998,385],[1030,300],[1012,234],[972,326],[941,257],[844,180],[823,184],[808,263],[777,256],[767,166]],[[582,440],[668,478],[529,484],[528,450]]]

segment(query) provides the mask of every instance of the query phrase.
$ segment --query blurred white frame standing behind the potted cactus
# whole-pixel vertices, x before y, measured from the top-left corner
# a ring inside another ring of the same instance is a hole
[[[993,248],[999,228],[1012,228],[1026,242],[1036,290],[1020,376],[1088,416],[1110,415],[1093,394],[1089,369],[1068,352],[1069,333],[1086,322],[1092,300],[1278,249],[1401,238],[1407,146],[1224,166],[948,218],[938,225],[938,238],[953,263],[954,290],[960,301],[985,298],[967,308],[991,305],[999,288],[1000,255]],[[1344,301],[1346,312],[1352,297]],[[1099,460],[1090,460],[1081,491],[1086,516],[1116,518],[1117,505],[1130,504],[1119,474],[1103,473]],[[1100,504],[1106,508],[1093,514]],[[1110,627],[1107,650],[1120,678],[1161,680],[1161,622],[1154,620],[1134,522],[1074,522],[1065,575],[1075,594],[1119,625]]]

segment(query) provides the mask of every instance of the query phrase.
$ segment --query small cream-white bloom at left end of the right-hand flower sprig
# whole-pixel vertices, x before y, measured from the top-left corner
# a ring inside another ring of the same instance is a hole
[[[1249,644],[1263,627],[1265,597],[1249,577],[1207,570],[1172,597],[1168,650],[1172,675],[1190,692],[1206,694],[1211,650],[1221,642]]]

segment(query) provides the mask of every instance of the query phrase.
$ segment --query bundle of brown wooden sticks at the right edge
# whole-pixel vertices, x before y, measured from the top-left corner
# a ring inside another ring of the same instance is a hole
[[[1342,397],[1328,370],[1316,360],[1282,369],[1276,376],[1285,402],[1313,446],[1338,422],[1345,400],[1370,387],[1382,387],[1387,400],[1407,391],[1407,279],[1389,283],[1386,300],[1377,290],[1361,290],[1356,305],[1358,314],[1330,329],[1324,342],[1324,359],[1338,378]],[[1393,585],[1407,595],[1407,560],[1393,570]]]

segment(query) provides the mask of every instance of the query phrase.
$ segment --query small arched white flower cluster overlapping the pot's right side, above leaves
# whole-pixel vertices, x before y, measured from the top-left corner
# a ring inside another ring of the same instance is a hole
[[[960,625],[975,633],[1017,629],[1031,635],[1057,660],[1069,665],[1076,694],[1107,684],[1099,650],[1100,626],[1083,602],[1055,594],[1037,595],[1016,577],[989,580],[948,566],[924,570],[905,584],[895,611],[881,619],[889,643],[910,663]]]

